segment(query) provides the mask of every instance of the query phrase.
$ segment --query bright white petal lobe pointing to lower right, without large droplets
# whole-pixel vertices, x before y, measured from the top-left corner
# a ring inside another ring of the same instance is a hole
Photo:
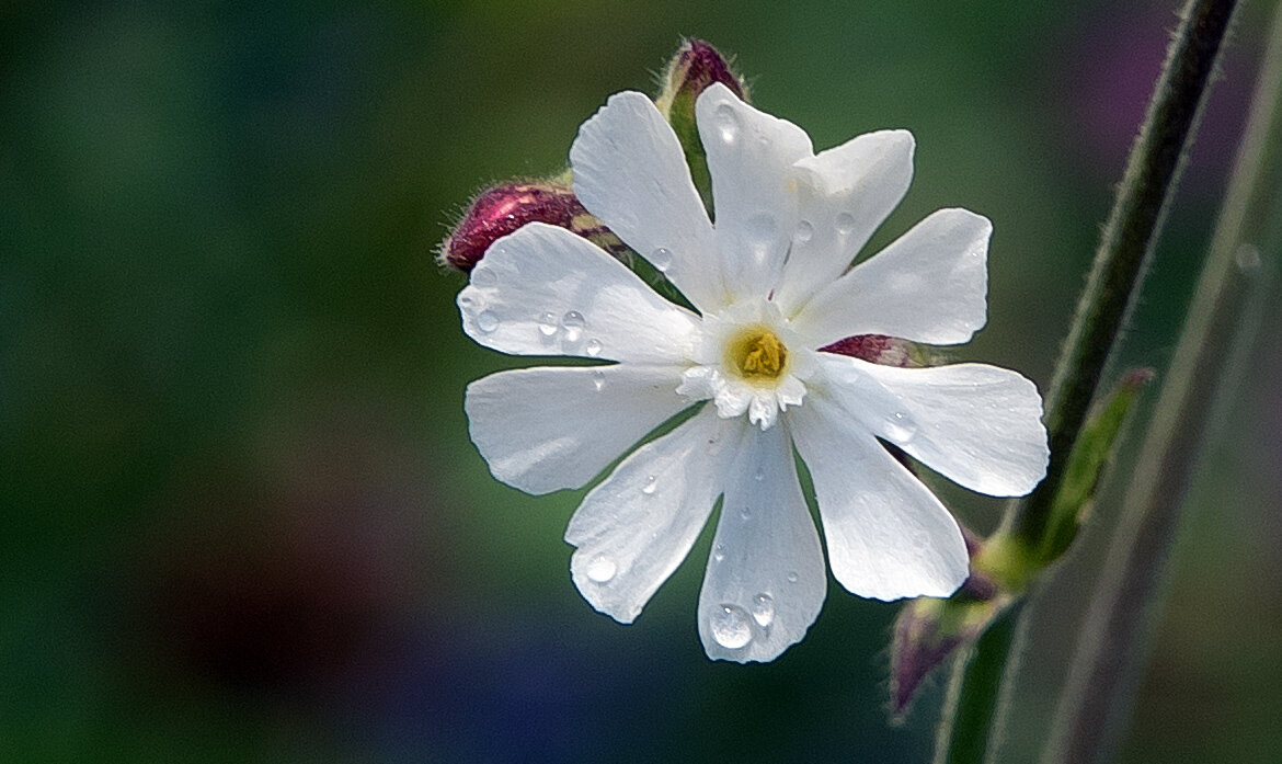
[[[962,586],[969,560],[956,520],[870,433],[814,391],[788,424],[842,586],[878,600],[944,597]]]

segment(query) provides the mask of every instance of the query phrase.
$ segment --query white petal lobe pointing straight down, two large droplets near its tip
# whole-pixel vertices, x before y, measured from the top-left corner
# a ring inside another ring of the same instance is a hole
[[[751,429],[726,483],[699,592],[704,650],[738,663],[773,660],[805,636],[826,588],[823,549],[786,428]]]

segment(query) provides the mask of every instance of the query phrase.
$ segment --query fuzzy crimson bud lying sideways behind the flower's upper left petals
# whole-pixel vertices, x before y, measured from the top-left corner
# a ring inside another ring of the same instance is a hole
[[[496,238],[536,222],[578,233],[612,255],[627,250],[604,223],[583,209],[568,183],[509,181],[482,191],[472,200],[454,231],[441,242],[438,262],[470,273]]]

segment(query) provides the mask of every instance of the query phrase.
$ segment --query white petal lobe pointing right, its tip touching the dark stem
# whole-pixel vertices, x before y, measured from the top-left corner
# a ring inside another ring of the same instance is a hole
[[[972,491],[1022,496],[1050,450],[1037,386],[1009,369],[901,369],[819,354],[827,395],[878,437]]]

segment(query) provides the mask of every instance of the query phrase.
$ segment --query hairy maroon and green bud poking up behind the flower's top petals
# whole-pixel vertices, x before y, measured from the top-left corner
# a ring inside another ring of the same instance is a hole
[[[747,100],[747,87],[726,58],[703,40],[682,42],[677,55],[664,68],[662,82],[663,90],[659,91],[655,105],[677,133],[690,165],[690,176],[706,203],[712,177],[708,174],[708,160],[695,124],[695,100],[714,82],[720,82],[744,100]]]

